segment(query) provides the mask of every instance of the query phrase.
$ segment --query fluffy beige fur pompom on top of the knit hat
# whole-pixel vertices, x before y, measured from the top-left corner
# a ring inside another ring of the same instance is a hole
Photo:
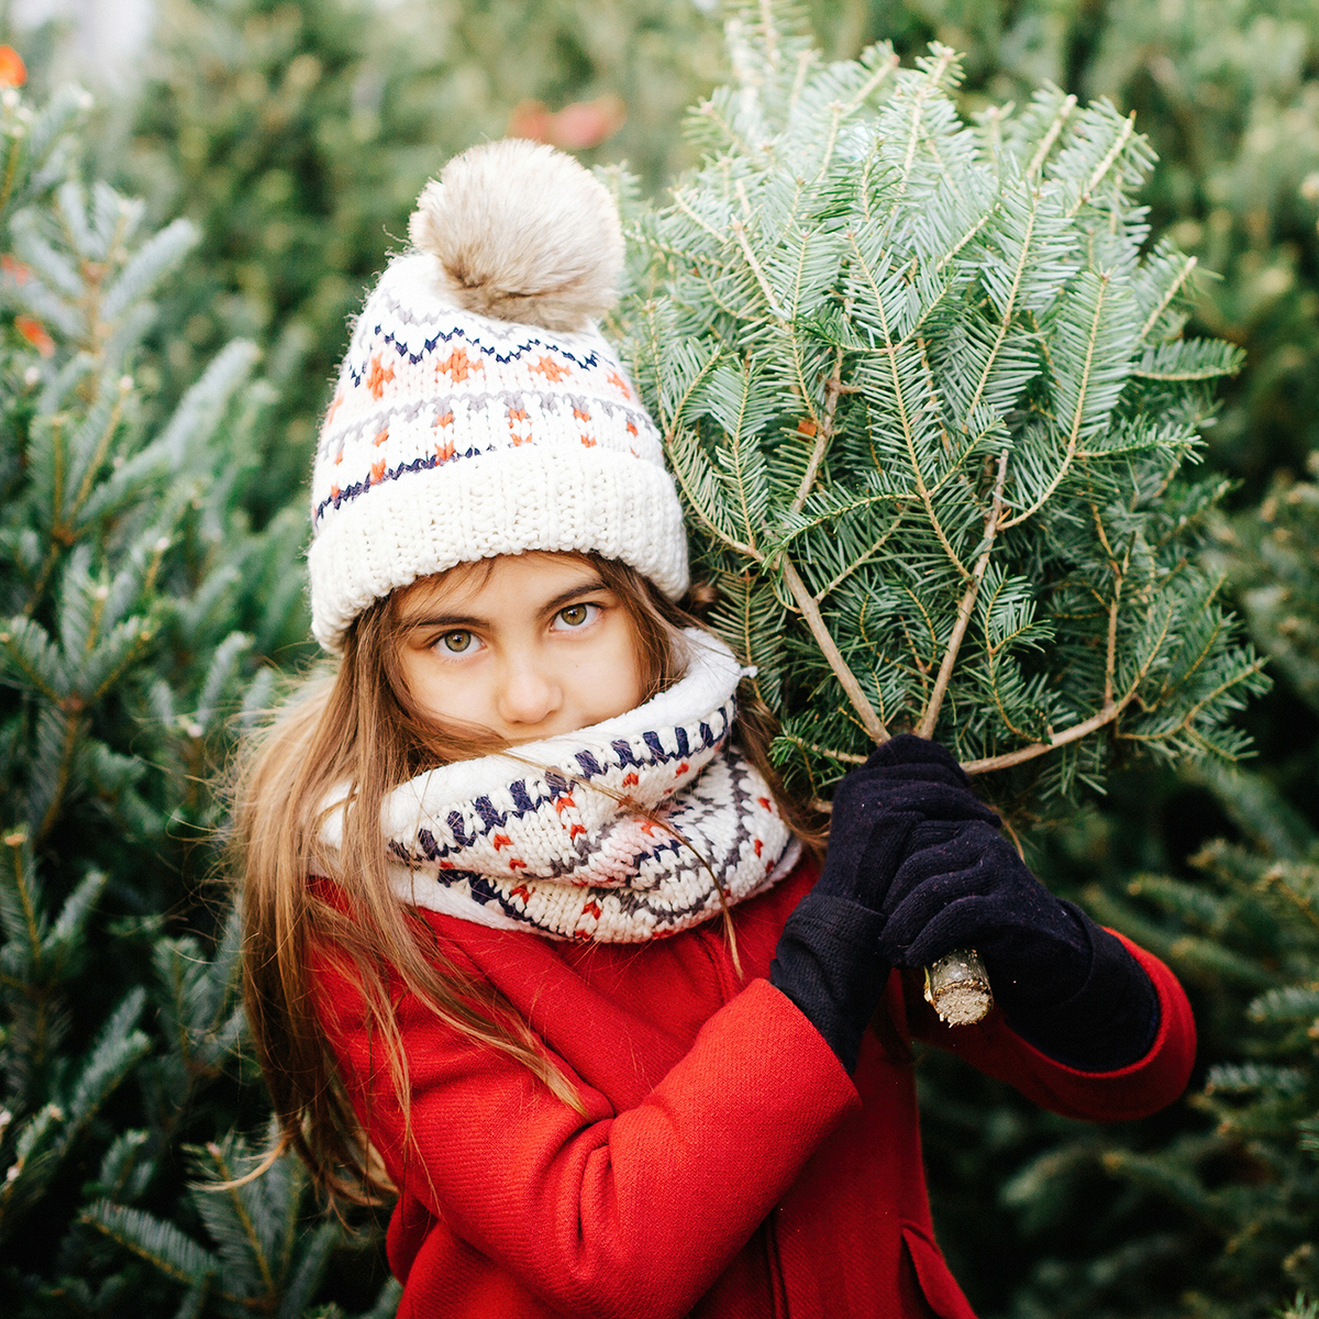
[[[455,156],[417,199],[408,236],[439,261],[458,306],[546,330],[584,330],[616,301],[623,227],[571,156],[508,137]]]

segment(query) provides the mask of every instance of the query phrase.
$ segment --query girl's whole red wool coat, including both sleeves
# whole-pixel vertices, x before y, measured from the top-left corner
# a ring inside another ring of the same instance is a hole
[[[1190,1008],[1140,948],[1162,1021],[1130,1067],[1074,1071],[997,1012],[940,1026],[894,975],[849,1078],[766,979],[814,881],[803,864],[735,907],[743,979],[719,919],[574,944],[429,915],[445,954],[532,1024],[588,1116],[402,997],[410,1153],[359,996],[318,963],[340,1072],[401,1190],[388,1240],[400,1319],[973,1319],[934,1242],[907,1038],[1072,1117],[1138,1117],[1182,1093]]]

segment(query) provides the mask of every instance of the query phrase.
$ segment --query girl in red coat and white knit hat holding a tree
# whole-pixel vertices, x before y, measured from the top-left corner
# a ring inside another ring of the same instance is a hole
[[[681,509],[594,326],[623,240],[570,158],[451,161],[367,299],[313,476],[339,656],[249,754],[245,993],[286,1144],[397,1192],[400,1314],[969,1319],[909,1041],[1055,1112],[1186,1084],[1167,969],[1030,876],[936,745],[828,848],[674,601]],[[901,972],[975,946],[998,1006]]]

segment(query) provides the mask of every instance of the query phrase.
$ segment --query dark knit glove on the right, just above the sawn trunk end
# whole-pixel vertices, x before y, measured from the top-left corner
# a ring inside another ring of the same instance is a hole
[[[886,960],[923,967],[975,948],[1013,1029],[1082,1071],[1112,1071],[1149,1051],[1158,996],[1140,963],[1049,893],[988,822],[922,822],[909,848],[881,907]]]

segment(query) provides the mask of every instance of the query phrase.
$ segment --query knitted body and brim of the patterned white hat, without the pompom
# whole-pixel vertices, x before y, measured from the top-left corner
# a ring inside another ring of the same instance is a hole
[[[353,328],[311,479],[313,623],[336,650],[372,600],[455,563],[598,550],[670,596],[686,537],[654,423],[594,330],[450,303],[397,257]]]

